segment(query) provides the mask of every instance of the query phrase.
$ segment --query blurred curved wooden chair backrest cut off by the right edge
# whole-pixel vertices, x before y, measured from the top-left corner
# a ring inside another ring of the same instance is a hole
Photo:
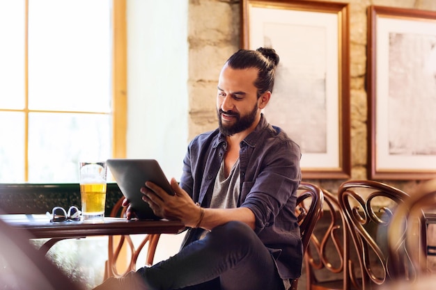
[[[428,265],[428,225],[436,223],[436,179],[426,182],[398,206],[388,229],[391,275],[396,280],[432,274]],[[427,218],[432,215],[431,222]],[[433,273],[434,274],[434,273]]]

